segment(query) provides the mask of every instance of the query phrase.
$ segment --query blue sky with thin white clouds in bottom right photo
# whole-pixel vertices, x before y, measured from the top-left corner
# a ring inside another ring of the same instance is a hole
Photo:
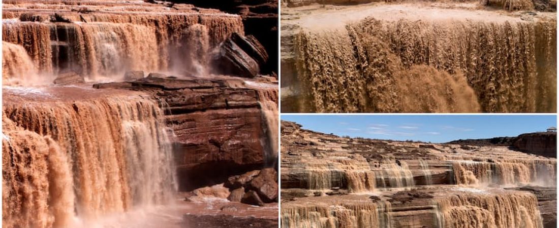
[[[556,127],[555,115],[286,115],[316,132],[374,139],[449,142],[517,136]]]

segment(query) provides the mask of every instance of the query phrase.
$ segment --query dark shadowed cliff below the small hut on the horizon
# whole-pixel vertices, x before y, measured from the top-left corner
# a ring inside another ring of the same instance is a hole
[[[513,146],[520,151],[541,156],[557,157],[557,133],[540,132],[521,134],[514,140]]]

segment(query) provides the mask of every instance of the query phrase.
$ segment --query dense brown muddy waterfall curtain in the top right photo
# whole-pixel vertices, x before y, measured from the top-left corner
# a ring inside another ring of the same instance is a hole
[[[302,30],[292,36],[298,111],[553,111],[555,30],[555,20],[374,18]]]

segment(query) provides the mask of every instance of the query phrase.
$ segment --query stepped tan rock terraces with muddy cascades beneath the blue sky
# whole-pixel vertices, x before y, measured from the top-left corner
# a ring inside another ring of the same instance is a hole
[[[283,227],[555,223],[555,182],[549,182],[555,158],[502,146],[352,139],[292,122],[281,126]],[[537,192],[527,185],[546,187]]]

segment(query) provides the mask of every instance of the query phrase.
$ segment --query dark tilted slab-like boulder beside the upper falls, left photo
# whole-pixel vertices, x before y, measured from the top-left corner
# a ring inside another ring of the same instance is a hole
[[[221,43],[213,61],[220,74],[255,77],[260,73],[260,66],[268,61],[268,54],[254,37],[233,33]]]

